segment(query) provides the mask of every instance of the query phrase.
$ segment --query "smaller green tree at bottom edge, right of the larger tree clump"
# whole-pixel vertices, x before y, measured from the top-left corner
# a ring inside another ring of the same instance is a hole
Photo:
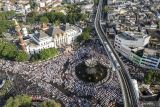
[[[61,107],[61,104],[54,100],[44,101],[40,104],[40,107]]]

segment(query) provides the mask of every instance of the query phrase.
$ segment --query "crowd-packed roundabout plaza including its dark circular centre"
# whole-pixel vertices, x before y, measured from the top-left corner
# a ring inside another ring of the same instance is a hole
[[[23,75],[23,79],[14,82],[17,84],[16,93],[34,95],[36,92],[37,95],[58,99],[66,107],[90,107],[94,104],[108,107],[110,101],[119,102],[121,99],[118,77],[112,71],[109,60],[89,46],[36,64],[2,63],[5,71]],[[28,85],[28,82],[37,84]],[[20,83],[23,83],[21,87]],[[26,86],[29,87],[24,88]]]

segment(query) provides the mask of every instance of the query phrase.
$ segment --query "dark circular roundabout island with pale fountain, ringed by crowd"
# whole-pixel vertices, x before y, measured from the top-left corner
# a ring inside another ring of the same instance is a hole
[[[108,67],[101,64],[97,59],[91,58],[79,63],[75,67],[75,74],[78,79],[84,82],[97,83],[107,76]]]

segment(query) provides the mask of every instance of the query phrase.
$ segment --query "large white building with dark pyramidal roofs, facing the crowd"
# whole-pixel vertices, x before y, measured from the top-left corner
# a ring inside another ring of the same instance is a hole
[[[65,29],[49,27],[45,29],[45,31],[35,31],[33,34],[28,34],[30,39],[25,40],[27,45],[26,51],[29,54],[34,54],[42,49],[66,46],[73,43],[81,33],[81,28],[69,24],[66,24]],[[23,35],[26,35],[26,30],[24,28]]]

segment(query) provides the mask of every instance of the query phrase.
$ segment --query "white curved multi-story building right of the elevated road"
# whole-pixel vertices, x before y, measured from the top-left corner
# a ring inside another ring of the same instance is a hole
[[[133,63],[145,68],[157,69],[160,64],[160,57],[157,51],[148,46],[151,36],[140,32],[125,31],[115,36],[115,49]]]

